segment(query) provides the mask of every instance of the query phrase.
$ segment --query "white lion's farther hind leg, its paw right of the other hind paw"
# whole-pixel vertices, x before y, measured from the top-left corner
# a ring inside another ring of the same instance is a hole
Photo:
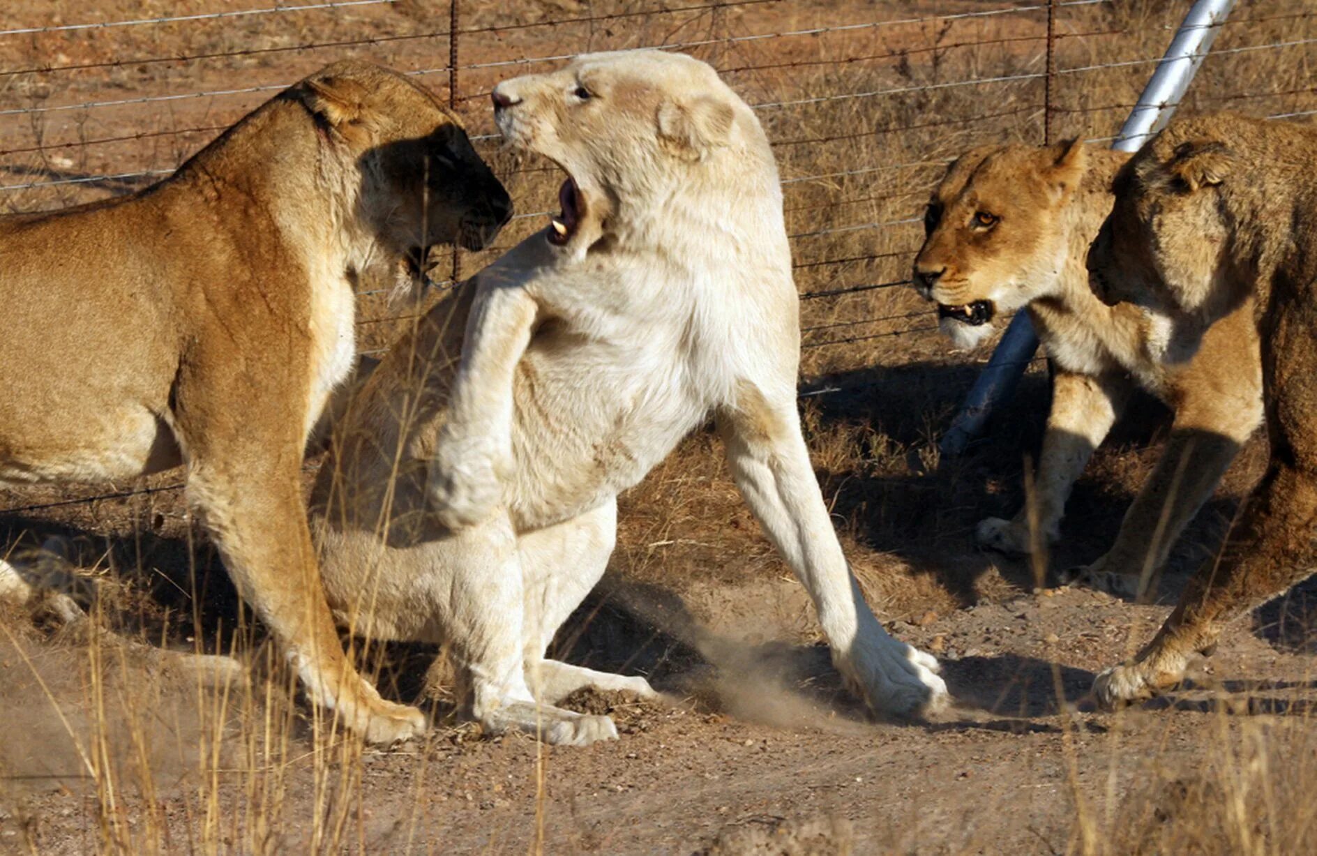
[[[519,540],[525,581],[525,680],[543,702],[556,705],[587,686],[657,697],[641,677],[597,672],[544,656],[558,627],[603,577],[616,531],[618,503],[610,499],[594,511]]]

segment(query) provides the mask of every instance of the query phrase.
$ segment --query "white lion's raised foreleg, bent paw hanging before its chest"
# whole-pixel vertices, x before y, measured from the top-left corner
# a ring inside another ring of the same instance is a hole
[[[489,518],[512,470],[512,382],[539,306],[516,286],[481,287],[466,321],[448,420],[429,462],[427,494],[449,529]]]

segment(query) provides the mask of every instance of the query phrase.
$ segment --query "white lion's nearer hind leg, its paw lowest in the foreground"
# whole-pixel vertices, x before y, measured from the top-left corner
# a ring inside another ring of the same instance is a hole
[[[525,586],[522,553],[507,518],[490,519],[461,537],[478,539],[479,548],[465,550],[461,566],[441,582],[448,598],[444,632],[466,682],[469,714],[491,734],[522,731],[554,744],[587,745],[616,737],[607,716],[561,710],[547,703],[549,699],[536,703],[527,685]]]

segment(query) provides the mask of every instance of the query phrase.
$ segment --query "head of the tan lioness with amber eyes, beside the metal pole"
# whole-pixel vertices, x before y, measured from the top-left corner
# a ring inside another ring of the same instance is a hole
[[[973,149],[947,170],[925,212],[914,284],[959,346],[1054,288],[1069,252],[1062,212],[1085,167],[1076,141]]]

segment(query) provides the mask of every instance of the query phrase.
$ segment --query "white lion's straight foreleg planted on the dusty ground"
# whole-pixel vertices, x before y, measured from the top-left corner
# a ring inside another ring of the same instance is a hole
[[[773,395],[741,383],[735,404],[718,415],[736,486],[805,585],[834,662],[868,705],[896,714],[942,707],[938,661],[892,639],[865,603],[810,465],[794,386],[776,386]]]

